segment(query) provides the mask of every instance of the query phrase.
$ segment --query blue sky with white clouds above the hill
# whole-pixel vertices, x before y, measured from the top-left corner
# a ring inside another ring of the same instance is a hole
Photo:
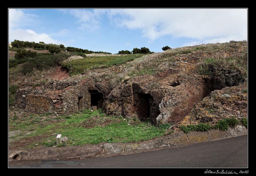
[[[247,40],[247,9],[8,9],[9,42],[118,53]]]

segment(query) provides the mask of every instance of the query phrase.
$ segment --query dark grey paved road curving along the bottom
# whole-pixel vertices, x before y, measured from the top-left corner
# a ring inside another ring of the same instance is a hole
[[[48,160],[15,167],[247,167],[247,135],[132,155]]]

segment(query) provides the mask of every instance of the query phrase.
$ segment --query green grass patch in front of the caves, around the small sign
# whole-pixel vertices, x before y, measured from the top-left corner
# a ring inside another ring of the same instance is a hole
[[[95,116],[107,120],[112,119],[113,123],[106,124],[105,126],[95,125],[92,128],[82,126],[84,122],[89,121],[90,118]],[[153,126],[147,121],[133,121],[132,119],[129,121],[127,119],[124,120],[122,117],[110,117],[102,113],[101,110],[91,112],[87,109],[82,114],[61,117],[51,116],[51,119],[49,118],[31,115],[24,117],[24,119],[13,119],[9,122],[9,130],[20,130],[23,133],[32,131],[31,133],[20,136],[19,139],[43,136],[37,143],[39,146],[43,145],[46,147],[55,145],[56,134],[62,134],[62,137],[68,137],[68,141],[64,145],[85,145],[101,142],[126,143],[150,140],[163,136],[167,131],[165,128]],[[56,120],[58,122],[54,122]],[[33,148],[35,144],[31,143],[27,147]]]

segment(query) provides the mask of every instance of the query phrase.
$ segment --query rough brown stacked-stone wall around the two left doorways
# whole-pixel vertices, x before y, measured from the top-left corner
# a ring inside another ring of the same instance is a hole
[[[19,89],[15,102],[16,107],[31,113],[54,112],[58,115],[68,115],[79,111],[79,97],[82,98],[83,109],[91,107],[89,90],[102,93],[104,99],[107,99],[111,92],[108,85],[101,85],[92,80],[83,80],[79,83],[54,81],[43,87]],[[103,109],[105,106],[103,103]]]

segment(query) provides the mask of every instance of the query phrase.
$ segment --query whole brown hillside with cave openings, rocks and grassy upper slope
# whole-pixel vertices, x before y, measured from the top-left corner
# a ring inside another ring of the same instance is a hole
[[[9,52],[9,59],[14,54]],[[220,129],[224,119],[234,118],[236,124],[246,121],[247,125],[247,42],[146,55],[68,52],[37,56],[45,57],[58,58],[58,62],[25,74],[26,62],[9,69],[11,117],[14,112],[18,119],[23,117],[16,111],[62,117],[103,109],[107,115],[129,121],[169,124],[172,130],[200,124]]]

